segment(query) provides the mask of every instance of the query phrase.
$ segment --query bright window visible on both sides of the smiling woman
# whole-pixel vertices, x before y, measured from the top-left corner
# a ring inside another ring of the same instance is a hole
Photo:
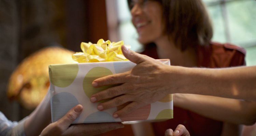
[[[110,1],[110,0],[108,0]],[[108,2],[106,0],[106,3]],[[139,51],[137,33],[130,21],[126,0],[115,1],[118,39]],[[256,65],[256,1],[255,0],[203,0],[213,22],[213,41],[233,43],[245,48],[246,65]],[[109,14],[109,13],[108,13]]]

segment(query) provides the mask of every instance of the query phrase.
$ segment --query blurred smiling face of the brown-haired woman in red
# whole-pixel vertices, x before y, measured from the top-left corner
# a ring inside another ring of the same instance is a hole
[[[133,1],[132,23],[141,44],[154,42],[163,34],[162,7],[157,1]]]

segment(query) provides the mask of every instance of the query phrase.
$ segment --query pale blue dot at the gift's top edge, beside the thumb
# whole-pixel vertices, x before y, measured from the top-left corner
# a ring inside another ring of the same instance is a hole
[[[116,73],[123,73],[131,70],[136,64],[130,61],[117,61],[113,62]]]

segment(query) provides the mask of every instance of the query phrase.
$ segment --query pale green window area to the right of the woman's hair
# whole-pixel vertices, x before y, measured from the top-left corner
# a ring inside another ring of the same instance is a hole
[[[213,41],[245,48],[246,65],[256,65],[256,1],[203,0],[212,18]]]

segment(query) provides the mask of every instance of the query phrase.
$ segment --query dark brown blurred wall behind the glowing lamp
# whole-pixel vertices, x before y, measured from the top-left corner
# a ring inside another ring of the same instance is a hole
[[[81,51],[82,41],[100,38],[108,39],[105,0],[0,0],[0,111],[12,121],[32,112],[6,96],[25,57],[52,45]]]

